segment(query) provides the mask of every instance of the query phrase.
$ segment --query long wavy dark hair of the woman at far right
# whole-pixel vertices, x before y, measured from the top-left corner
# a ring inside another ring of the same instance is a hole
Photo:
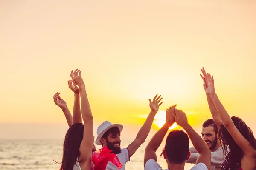
[[[248,127],[242,119],[236,116],[231,117],[233,123],[235,124],[236,128],[239,130],[239,132],[244,136],[245,139],[247,139],[248,142],[250,142],[250,145],[253,146],[253,148],[256,150],[256,140],[253,136],[253,131]],[[228,167],[230,167],[231,170],[234,170],[237,165],[241,166],[241,159],[244,156],[244,152],[241,150],[241,148],[236,144],[233,137],[230,135],[230,133],[227,131],[226,127],[224,125],[221,125],[218,136],[221,142],[221,147],[224,150],[224,153],[227,154],[227,145],[229,145],[229,162]]]

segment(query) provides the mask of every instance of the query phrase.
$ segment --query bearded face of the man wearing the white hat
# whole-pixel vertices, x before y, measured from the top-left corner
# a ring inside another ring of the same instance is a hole
[[[118,127],[112,127],[103,134],[102,138],[100,139],[100,142],[102,143],[103,147],[107,146],[108,149],[112,150],[112,153],[121,153],[120,135],[120,129]]]

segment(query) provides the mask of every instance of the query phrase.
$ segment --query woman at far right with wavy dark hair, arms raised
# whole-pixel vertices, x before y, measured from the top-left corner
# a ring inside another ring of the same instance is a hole
[[[213,76],[206,74],[204,68],[201,71],[212,118],[219,128],[218,137],[227,154],[221,170],[255,170],[256,140],[252,130],[239,117],[230,118],[215,93]],[[229,151],[226,145],[229,146]]]

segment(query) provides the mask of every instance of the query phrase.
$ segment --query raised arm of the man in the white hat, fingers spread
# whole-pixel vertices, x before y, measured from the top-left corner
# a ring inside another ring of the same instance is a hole
[[[156,95],[153,99],[153,102],[151,101],[151,99],[149,99],[149,106],[150,106],[151,111],[150,111],[145,123],[140,128],[140,131],[138,132],[135,140],[133,142],[131,142],[131,144],[129,144],[129,146],[128,146],[130,157],[135,153],[135,151],[140,147],[140,145],[145,142],[145,139],[147,138],[148,133],[151,129],[151,125],[154,121],[154,116],[156,115],[159,106],[163,103],[163,102],[161,102],[159,104],[159,102],[163,99],[163,98],[159,99],[160,97],[161,97],[161,95],[158,97]]]

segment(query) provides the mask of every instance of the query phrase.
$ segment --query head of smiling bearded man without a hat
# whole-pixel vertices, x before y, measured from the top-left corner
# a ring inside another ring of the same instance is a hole
[[[213,119],[206,120],[202,128],[202,138],[212,152],[217,150],[221,146],[217,134],[218,127]]]

